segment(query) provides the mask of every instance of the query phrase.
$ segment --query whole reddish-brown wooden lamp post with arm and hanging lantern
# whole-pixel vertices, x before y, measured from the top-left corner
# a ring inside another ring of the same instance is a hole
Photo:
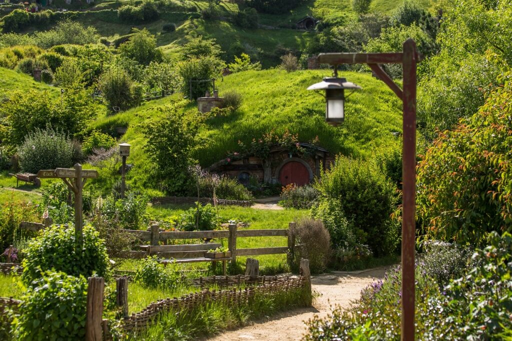
[[[423,56],[416,50],[416,42],[409,38],[403,43],[403,52],[397,53],[324,53],[317,57],[319,63],[339,64],[368,64],[375,75],[388,85],[403,102],[403,156],[402,156],[402,315],[401,339],[414,340],[414,251],[416,230],[416,64]],[[379,64],[402,64],[403,90],[400,89],[382,69]],[[337,78],[337,76],[335,75]],[[340,81],[343,80],[343,81]],[[326,80],[324,80],[325,83]],[[344,99],[343,78],[337,78],[337,95],[335,99]],[[326,121],[337,124],[345,117],[344,102],[329,106],[329,89],[317,83],[308,89],[325,89],[327,99]],[[331,82],[332,83],[332,82]],[[353,84],[353,83],[350,83]],[[329,85],[329,84],[324,84]],[[355,84],[353,84],[355,85]],[[339,92],[342,92],[341,94]],[[331,90],[332,92],[332,90]],[[338,112],[332,112],[337,110]],[[334,118],[334,120],[333,120]],[[341,120],[340,120],[341,118]]]

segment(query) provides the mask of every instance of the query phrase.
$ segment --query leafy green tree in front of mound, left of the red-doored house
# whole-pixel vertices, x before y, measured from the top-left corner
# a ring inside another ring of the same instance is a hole
[[[159,107],[163,116],[146,124],[142,129],[147,142],[144,149],[150,156],[153,186],[169,194],[187,194],[194,179],[187,169],[196,164],[194,152],[204,142],[199,130],[205,116],[192,111],[183,114],[175,107]]]

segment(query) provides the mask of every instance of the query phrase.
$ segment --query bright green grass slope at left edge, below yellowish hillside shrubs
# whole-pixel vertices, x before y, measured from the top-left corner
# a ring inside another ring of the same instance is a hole
[[[23,92],[28,92],[29,90],[47,91],[52,97],[57,97],[60,94],[60,89],[54,86],[36,82],[29,75],[5,69],[4,67],[0,67],[0,90],[4,94],[14,90],[22,90]]]

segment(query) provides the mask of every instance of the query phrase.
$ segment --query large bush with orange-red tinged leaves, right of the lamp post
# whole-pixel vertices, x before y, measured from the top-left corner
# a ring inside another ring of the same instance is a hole
[[[418,167],[418,215],[426,238],[481,244],[512,231],[512,82],[496,89],[471,118],[440,132]]]

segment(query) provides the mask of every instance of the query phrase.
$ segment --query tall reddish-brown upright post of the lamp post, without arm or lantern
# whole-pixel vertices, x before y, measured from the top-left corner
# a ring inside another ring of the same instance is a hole
[[[416,43],[403,43],[402,314],[401,339],[414,340],[416,231]]]

